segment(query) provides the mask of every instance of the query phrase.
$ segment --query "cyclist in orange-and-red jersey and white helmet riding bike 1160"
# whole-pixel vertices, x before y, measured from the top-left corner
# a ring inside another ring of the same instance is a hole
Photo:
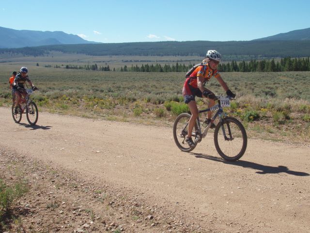
[[[208,82],[212,76],[214,76],[221,86],[226,91],[227,96],[234,98],[236,95],[228,88],[227,84],[221,78],[217,66],[221,61],[221,54],[216,50],[208,50],[205,59],[202,61],[202,65],[197,67],[190,76],[186,79],[182,94],[184,96],[184,101],[188,104],[189,110],[191,112],[191,117],[188,121],[188,133],[186,136],[186,143],[190,147],[194,146],[194,142],[191,138],[192,131],[195,125],[196,118],[198,117],[198,108],[195,101],[195,97],[207,98],[209,100],[208,108],[215,105],[216,96],[212,91],[205,88],[204,85]],[[211,121],[212,112],[209,111],[207,114],[207,124]],[[212,123],[211,128],[215,125]]]

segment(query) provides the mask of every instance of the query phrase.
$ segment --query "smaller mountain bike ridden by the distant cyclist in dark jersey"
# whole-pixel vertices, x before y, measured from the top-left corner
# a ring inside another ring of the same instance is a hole
[[[16,106],[16,103],[12,105],[12,116],[16,123],[21,121],[22,114],[25,113],[29,124],[35,125],[38,121],[38,107],[37,105],[30,99],[30,95],[33,93],[32,89],[22,89],[22,91],[26,92],[26,97],[21,95],[20,106]]]

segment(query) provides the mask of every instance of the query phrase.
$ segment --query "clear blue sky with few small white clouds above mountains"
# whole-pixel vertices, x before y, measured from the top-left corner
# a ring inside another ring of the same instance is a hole
[[[310,28],[310,0],[0,0],[0,26],[103,43],[252,40]]]

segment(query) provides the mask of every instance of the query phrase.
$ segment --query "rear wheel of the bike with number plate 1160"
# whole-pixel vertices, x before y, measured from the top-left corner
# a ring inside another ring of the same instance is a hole
[[[179,116],[176,117],[174,124],[173,124],[173,138],[174,142],[177,145],[177,147],[185,152],[189,152],[195,149],[197,145],[197,140],[193,138],[193,141],[195,142],[194,147],[190,147],[186,142],[185,138],[188,133],[188,120],[190,118],[190,114],[188,113],[181,113]],[[197,125],[195,124],[195,127],[193,129],[193,132],[197,132]],[[193,135],[194,136],[194,135]]]

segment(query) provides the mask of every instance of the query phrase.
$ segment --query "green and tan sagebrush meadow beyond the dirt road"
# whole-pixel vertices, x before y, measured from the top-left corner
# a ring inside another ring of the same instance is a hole
[[[184,73],[64,68],[67,64],[95,62],[98,66],[109,64],[111,68],[124,64],[129,67],[155,64],[159,62],[159,58],[161,64],[172,64],[180,60],[187,64],[195,63],[189,61],[195,60],[194,57],[146,57],[139,58],[139,63],[138,59],[132,57],[126,59],[117,56],[104,59],[87,56],[73,59],[71,56],[67,61],[58,62],[50,57],[24,58],[24,62],[20,58],[6,58],[7,62],[0,63],[0,106],[11,105],[8,85],[11,72],[27,66],[31,81],[39,88],[32,95],[39,111],[171,126],[175,116],[187,111],[182,97]],[[199,62],[198,59],[196,61]],[[56,65],[59,68],[55,68]],[[222,77],[237,95],[227,112],[242,120],[249,136],[270,140],[310,141],[309,71],[226,72],[222,73]],[[224,95],[224,90],[214,78],[206,87],[217,95]],[[206,100],[197,100],[200,108],[207,106]]]

